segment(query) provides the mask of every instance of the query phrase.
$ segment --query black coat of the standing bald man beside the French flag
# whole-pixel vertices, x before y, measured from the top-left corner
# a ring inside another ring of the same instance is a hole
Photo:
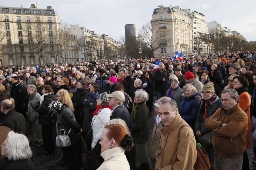
[[[165,81],[163,81],[163,78],[165,78]],[[162,72],[160,70],[156,70],[154,72],[154,81],[156,83],[155,90],[158,92],[165,92],[166,86],[168,84],[169,80],[169,73],[166,69],[164,69]]]

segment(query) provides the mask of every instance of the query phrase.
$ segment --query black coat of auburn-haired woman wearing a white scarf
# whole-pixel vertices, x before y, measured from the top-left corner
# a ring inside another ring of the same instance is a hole
[[[41,105],[40,105],[40,103],[38,103],[38,105],[36,107],[37,108],[36,112],[38,112],[38,114],[39,114],[38,120],[39,120],[40,125],[50,125],[50,122],[47,117],[48,112],[49,112],[48,106],[52,101],[55,101],[55,100],[57,100],[57,98],[54,94],[48,94],[48,95],[44,96],[44,101],[42,102]]]

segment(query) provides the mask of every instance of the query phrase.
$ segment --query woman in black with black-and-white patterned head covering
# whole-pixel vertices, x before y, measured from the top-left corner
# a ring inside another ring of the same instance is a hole
[[[62,104],[59,101],[51,102],[49,109],[59,114],[56,122],[56,133],[63,135],[63,132],[60,132],[61,129],[65,129],[69,133],[71,145],[61,147],[67,169],[80,169],[82,167],[82,154],[79,146],[79,134],[82,132],[82,129],[76,122],[74,113],[68,105]]]

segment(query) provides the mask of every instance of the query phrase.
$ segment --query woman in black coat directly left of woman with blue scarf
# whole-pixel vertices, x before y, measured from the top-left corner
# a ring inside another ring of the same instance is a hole
[[[72,102],[74,105],[74,114],[75,118],[77,120],[77,123],[80,125],[80,127],[83,127],[84,123],[84,105],[82,103],[83,99],[86,97],[88,93],[88,88],[86,87],[84,80],[79,80],[77,82],[77,91],[74,92],[72,97]]]

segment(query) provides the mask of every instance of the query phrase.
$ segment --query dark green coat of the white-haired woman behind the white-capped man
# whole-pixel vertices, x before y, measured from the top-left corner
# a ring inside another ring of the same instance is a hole
[[[137,107],[136,107],[137,106]],[[134,108],[136,107],[136,112]],[[134,113],[133,113],[134,112]],[[132,116],[132,130],[133,139],[137,143],[144,143],[148,141],[148,116],[149,111],[145,103],[139,103],[133,107]]]

